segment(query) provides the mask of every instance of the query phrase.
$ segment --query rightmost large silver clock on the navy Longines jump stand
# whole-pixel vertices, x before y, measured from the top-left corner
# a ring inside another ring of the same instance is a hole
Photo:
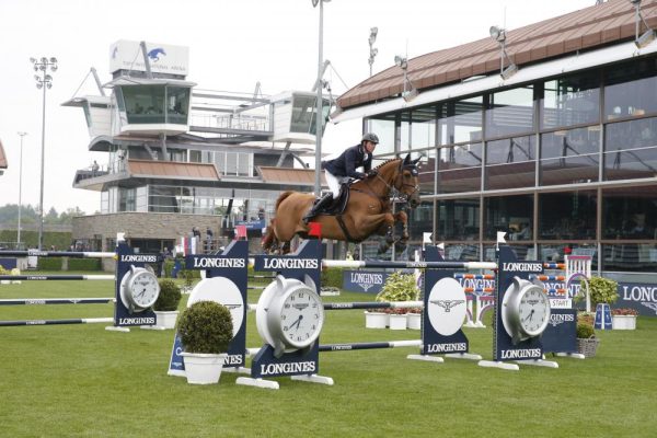
[[[514,277],[502,302],[502,322],[512,343],[541,335],[550,323],[550,299],[539,285]]]

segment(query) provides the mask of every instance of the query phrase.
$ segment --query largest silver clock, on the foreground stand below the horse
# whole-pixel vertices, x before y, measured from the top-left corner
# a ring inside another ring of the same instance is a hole
[[[274,356],[313,346],[324,324],[324,307],[314,283],[276,277],[261,295],[255,312],[257,331],[274,347]]]

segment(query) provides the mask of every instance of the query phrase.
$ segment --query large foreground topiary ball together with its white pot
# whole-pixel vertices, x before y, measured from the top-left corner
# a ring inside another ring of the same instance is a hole
[[[230,311],[215,301],[197,301],[177,323],[187,383],[218,383],[232,339]]]

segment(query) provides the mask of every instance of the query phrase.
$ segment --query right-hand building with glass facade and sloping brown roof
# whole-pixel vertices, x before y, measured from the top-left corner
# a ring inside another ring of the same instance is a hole
[[[642,14],[657,25],[657,2]],[[657,269],[657,42],[635,43],[635,10],[609,1],[408,60],[338,99],[377,158],[425,155],[412,240],[433,231],[449,258],[492,260],[506,231],[528,260],[593,256],[593,269]],[[650,31],[652,32],[652,31]],[[507,62],[506,66],[502,62]]]

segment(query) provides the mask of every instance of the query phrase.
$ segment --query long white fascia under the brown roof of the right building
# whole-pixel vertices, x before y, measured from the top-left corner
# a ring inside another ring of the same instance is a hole
[[[636,48],[634,42],[622,43],[601,49],[566,56],[548,62],[520,67],[518,72],[507,80],[502,79],[499,74],[492,74],[484,78],[465,80],[458,84],[440,87],[424,92],[420,91],[419,94],[410,102],[406,102],[400,96],[380,103],[357,106],[343,112],[338,111],[333,113],[334,116],[331,120],[334,124],[337,124],[345,120],[413,108],[435,102],[479,94],[488,90],[520,85],[543,78],[572,73],[655,53],[657,53],[657,42],[653,42],[653,44],[641,49]]]

